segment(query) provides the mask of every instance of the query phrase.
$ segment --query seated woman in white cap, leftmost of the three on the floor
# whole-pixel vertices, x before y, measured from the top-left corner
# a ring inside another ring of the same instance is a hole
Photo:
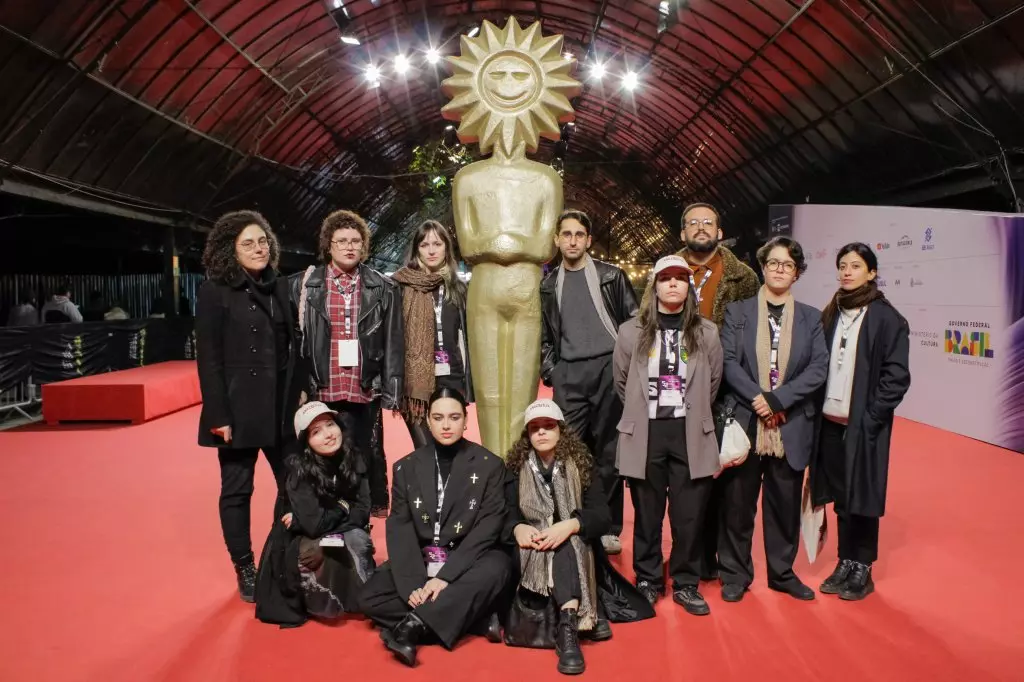
[[[295,413],[285,514],[270,529],[256,579],[256,617],[283,628],[357,609],[374,572],[370,484],[353,427],[323,402]]]

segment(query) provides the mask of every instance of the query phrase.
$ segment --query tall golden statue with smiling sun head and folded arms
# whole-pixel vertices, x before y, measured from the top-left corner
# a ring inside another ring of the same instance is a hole
[[[452,97],[441,115],[459,121],[464,144],[494,156],[456,174],[453,210],[469,287],[469,347],[483,444],[504,457],[537,399],[541,368],[541,265],[554,256],[562,180],[526,159],[541,137],[559,139],[580,92],[562,37],[541,35],[510,17],[504,29],[484,22],[441,87]]]

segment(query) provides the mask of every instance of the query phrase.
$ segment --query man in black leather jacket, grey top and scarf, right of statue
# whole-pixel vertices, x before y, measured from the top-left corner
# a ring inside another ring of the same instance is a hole
[[[594,455],[611,511],[601,544],[618,554],[623,481],[615,472],[615,427],[623,403],[612,383],[611,352],[620,325],[637,312],[637,299],[625,272],[587,253],[590,232],[582,211],[565,211],[558,219],[562,263],[541,283],[541,377],[554,388],[566,424]]]

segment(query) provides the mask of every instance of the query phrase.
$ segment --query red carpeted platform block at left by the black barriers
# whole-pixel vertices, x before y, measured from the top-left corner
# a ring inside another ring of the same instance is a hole
[[[158,363],[43,385],[43,419],[57,422],[142,422],[199,404],[195,360]]]

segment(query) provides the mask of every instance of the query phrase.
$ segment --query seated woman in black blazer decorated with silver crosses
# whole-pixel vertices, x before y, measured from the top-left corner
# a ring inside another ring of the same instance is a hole
[[[463,438],[466,398],[438,388],[427,407],[430,440],[395,463],[389,561],[362,589],[362,612],[382,629],[396,658],[416,665],[417,646],[436,638],[447,649],[467,632],[489,625],[511,559],[502,546],[505,466],[494,453]]]

